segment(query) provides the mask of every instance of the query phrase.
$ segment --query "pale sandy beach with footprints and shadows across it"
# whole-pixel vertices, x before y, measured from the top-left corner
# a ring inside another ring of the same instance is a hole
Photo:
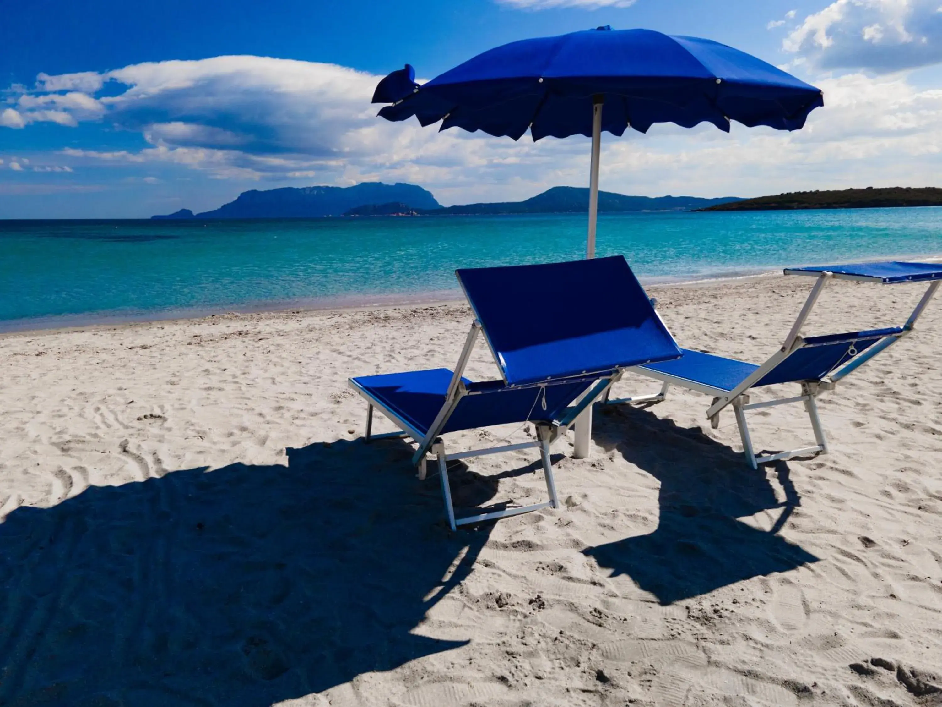
[[[651,289],[683,345],[759,362],[810,284]],[[838,283],[808,331],[899,323],[921,291]],[[469,323],[0,338],[0,704],[942,703],[918,696],[942,686],[942,303],[823,395],[830,455],[753,471],[732,415],[677,392],[596,414],[591,459],[557,443],[566,508],[450,534],[410,448],[358,439],[346,379],[451,367]],[[485,347],[469,373],[494,377]],[[801,406],[751,419],[757,449],[813,439]],[[541,499],[535,462],[458,465],[456,502]]]

